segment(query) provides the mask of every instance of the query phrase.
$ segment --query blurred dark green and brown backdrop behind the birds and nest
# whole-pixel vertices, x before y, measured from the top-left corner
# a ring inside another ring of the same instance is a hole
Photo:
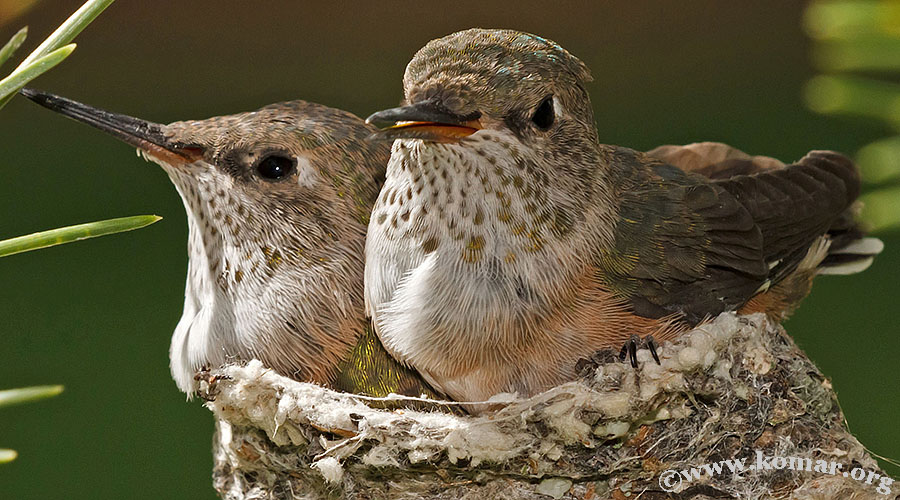
[[[27,54],[81,0],[0,0],[0,39],[28,25]],[[816,71],[805,4],[303,2],[113,4],[78,50],[33,86],[153,121],[206,118],[303,98],[360,116],[396,105],[406,62],[459,29],[556,40],[592,68],[604,142],[637,149],[718,140],[794,160],[847,153],[887,125],[804,106]],[[7,71],[11,69],[7,68]],[[109,217],[165,220],[0,260],[0,387],[61,383],[5,409],[0,498],[215,498],[211,414],[169,377],[181,314],[186,222],[161,169],[86,126],[17,98],[0,113],[0,238]],[[850,428],[900,459],[900,234],[864,274],[824,277],[788,330],[832,377]],[[900,470],[887,465],[894,477]]]

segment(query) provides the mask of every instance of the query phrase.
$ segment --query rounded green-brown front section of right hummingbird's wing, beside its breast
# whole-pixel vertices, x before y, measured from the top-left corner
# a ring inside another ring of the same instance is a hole
[[[617,149],[612,163],[619,223],[601,279],[645,317],[696,323],[739,306],[768,272],[750,213],[703,177],[631,154]]]

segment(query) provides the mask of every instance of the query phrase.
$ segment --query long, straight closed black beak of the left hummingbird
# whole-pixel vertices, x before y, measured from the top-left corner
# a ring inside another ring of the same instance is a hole
[[[111,113],[40,90],[24,88],[19,93],[47,109],[96,127],[167,163],[192,163],[203,156],[200,147],[172,143],[158,123]]]

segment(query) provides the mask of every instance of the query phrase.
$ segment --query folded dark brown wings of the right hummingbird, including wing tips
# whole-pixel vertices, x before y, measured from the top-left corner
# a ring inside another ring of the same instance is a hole
[[[630,258],[607,259],[618,265],[603,269],[641,316],[680,313],[697,323],[738,309],[790,275],[819,236],[853,231],[847,214],[859,175],[842,155],[812,152],[782,167],[711,143],[699,151],[718,161],[696,148],[655,151],[693,170],[651,164],[644,179],[622,172],[629,179],[620,185],[615,253]]]

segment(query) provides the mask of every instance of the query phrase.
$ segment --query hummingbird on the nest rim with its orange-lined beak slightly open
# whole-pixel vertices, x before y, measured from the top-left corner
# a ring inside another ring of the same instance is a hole
[[[715,143],[601,144],[584,63],[557,43],[471,29],[433,40],[404,102],[366,241],[385,348],[458,401],[531,396],[576,363],[676,338],[724,311],[781,318],[817,274],[881,250],[853,222],[856,166],[784,165]]]

